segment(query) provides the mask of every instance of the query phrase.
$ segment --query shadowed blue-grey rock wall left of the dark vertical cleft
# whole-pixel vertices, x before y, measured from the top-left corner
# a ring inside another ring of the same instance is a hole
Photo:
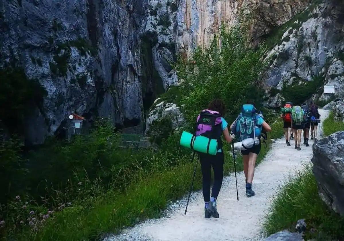
[[[27,142],[42,143],[73,112],[140,122],[146,13],[145,0],[0,0],[0,68],[20,67],[47,91],[24,118]]]

